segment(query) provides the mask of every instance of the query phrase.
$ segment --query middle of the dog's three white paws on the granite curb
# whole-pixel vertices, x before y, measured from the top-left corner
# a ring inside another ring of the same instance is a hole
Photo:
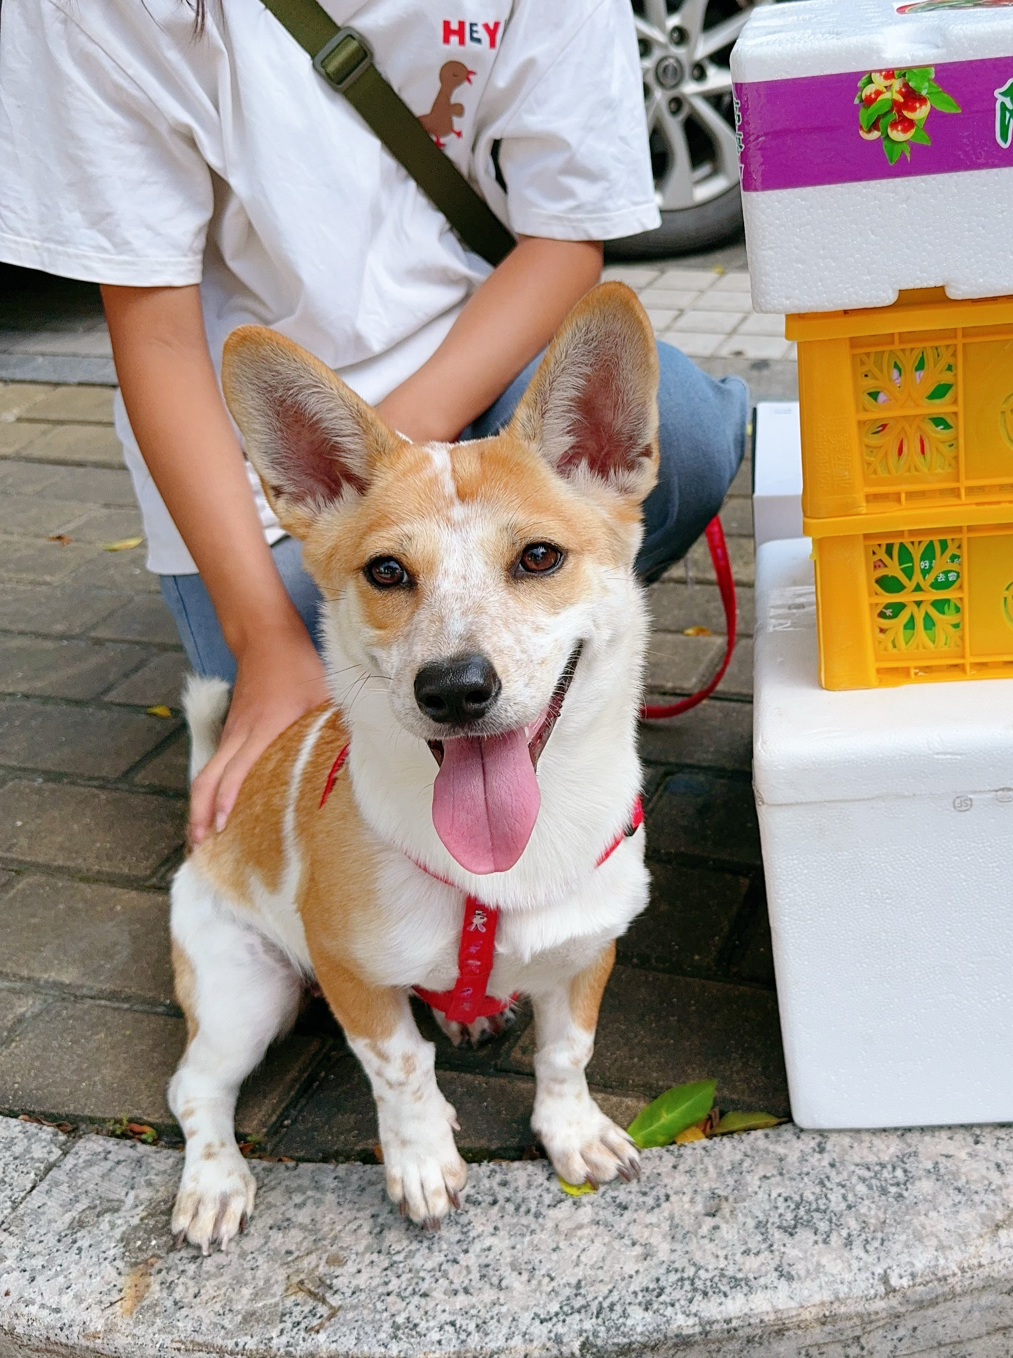
[[[448,1116],[420,1119],[411,1128],[382,1131],[387,1192],[402,1217],[439,1230],[451,1210],[460,1206],[460,1190],[467,1181],[467,1165],[458,1154]]]

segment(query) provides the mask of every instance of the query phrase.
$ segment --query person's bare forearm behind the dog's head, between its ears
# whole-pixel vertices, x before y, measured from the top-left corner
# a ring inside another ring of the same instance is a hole
[[[600,242],[521,238],[379,414],[416,441],[456,439],[545,349],[600,273]]]

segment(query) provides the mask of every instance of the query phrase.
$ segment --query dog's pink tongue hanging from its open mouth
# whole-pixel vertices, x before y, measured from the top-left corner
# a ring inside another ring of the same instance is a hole
[[[462,868],[512,868],[527,847],[540,804],[523,729],[483,740],[444,740],[433,786],[433,824]]]

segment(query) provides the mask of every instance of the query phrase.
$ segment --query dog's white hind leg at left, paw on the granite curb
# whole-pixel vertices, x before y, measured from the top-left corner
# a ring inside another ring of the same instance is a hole
[[[301,979],[281,952],[215,894],[191,862],[172,883],[172,968],[187,1044],[168,1085],[186,1137],[172,1232],[206,1255],[253,1211],[257,1186],[235,1141],[239,1086],[291,1027]]]

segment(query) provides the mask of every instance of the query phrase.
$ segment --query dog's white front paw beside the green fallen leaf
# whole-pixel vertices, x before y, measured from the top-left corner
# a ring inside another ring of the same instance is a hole
[[[557,1175],[568,1184],[640,1179],[640,1152],[622,1127],[606,1118],[591,1095],[536,1099],[531,1126]]]

